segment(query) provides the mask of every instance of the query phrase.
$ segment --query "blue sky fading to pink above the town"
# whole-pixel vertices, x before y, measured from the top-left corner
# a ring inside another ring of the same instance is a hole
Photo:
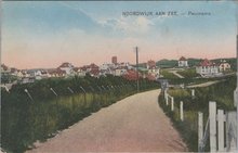
[[[11,67],[101,65],[114,55],[134,64],[136,46],[140,62],[236,56],[234,1],[3,1],[1,8],[1,63]]]

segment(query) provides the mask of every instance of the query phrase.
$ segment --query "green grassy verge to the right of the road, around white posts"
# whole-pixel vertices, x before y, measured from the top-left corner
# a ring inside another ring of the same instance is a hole
[[[204,119],[207,119],[209,113],[209,101],[215,101],[217,109],[234,111],[235,88],[236,77],[230,76],[227,77],[225,81],[221,81],[213,86],[195,88],[195,98],[191,98],[190,89],[171,89],[169,90],[169,94],[174,97],[174,112],[171,112],[170,107],[164,104],[163,94],[159,95],[160,106],[171,118],[175,128],[181,132],[189,151],[197,152],[198,149],[198,112],[202,112],[204,114]],[[184,102],[184,122],[180,120],[180,101]],[[209,151],[209,144],[207,144],[206,151]]]

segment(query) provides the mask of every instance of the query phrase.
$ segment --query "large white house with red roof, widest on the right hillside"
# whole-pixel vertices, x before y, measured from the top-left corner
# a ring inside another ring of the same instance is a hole
[[[197,67],[196,72],[202,77],[214,77],[221,75],[219,72],[219,65],[212,63],[208,59],[204,59]]]

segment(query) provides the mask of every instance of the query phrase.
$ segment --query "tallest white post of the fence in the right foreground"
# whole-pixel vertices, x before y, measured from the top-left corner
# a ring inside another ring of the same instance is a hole
[[[209,102],[210,151],[216,152],[216,103]]]

